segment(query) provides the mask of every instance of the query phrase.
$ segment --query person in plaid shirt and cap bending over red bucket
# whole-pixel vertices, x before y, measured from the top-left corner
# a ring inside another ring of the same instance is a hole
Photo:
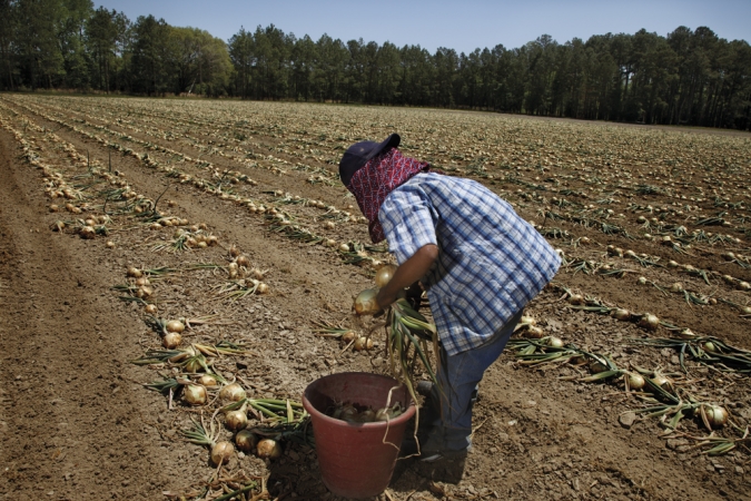
[[[419,385],[427,396],[421,461],[458,461],[463,469],[477,384],[561,258],[507,202],[474,180],[431,171],[403,156],[399,141],[392,134],[350,146],[339,176],[368,219],[370,239],[386,239],[398,264],[378,305],[386,308],[417,281],[427,292],[442,391]]]

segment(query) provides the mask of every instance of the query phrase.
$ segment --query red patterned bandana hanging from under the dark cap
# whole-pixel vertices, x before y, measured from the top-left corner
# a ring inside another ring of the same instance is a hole
[[[386,238],[378,220],[378,210],[389,193],[409,178],[431,168],[427,161],[402,156],[398,149],[372,158],[357,170],[347,188],[355,195],[357,205],[368,220],[368,232],[374,244]]]

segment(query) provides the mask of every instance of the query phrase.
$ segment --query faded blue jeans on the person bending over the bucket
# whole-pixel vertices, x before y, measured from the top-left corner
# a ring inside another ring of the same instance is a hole
[[[441,391],[434,385],[421,420],[421,428],[425,430],[425,434],[421,433],[424,453],[458,452],[471,445],[472,406],[477,384],[487,367],[501,356],[521,317],[522,312],[518,312],[480,347],[453,356],[441,350],[436,374]]]

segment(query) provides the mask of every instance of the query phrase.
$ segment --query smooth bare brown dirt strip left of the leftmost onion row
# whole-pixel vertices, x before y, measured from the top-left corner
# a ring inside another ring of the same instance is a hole
[[[36,173],[14,156],[0,132],[0,499],[155,499],[174,480],[123,367],[132,321],[46,227]]]

